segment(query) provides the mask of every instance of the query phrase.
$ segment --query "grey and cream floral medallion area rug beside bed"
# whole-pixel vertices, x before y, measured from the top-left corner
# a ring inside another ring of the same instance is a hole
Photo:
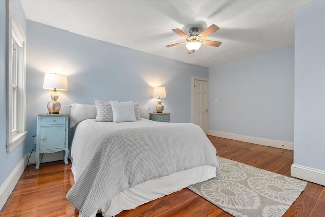
[[[187,187],[233,216],[282,216],[307,182],[218,157],[216,178]]]

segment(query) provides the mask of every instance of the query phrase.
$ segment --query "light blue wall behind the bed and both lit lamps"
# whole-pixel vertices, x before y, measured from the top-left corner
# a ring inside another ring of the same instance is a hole
[[[67,75],[68,91],[59,92],[61,113],[71,103],[94,104],[93,98],[133,100],[155,111],[152,86],[166,86],[164,112],[172,122],[191,122],[191,76],[208,77],[208,68],[91,39],[37,22],[27,22],[27,148],[36,134],[37,113],[47,113],[51,91],[44,73]],[[165,49],[164,47],[161,49]]]

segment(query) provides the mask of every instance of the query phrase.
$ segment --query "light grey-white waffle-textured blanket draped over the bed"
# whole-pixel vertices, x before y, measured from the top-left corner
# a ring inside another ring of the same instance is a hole
[[[67,199],[90,216],[114,195],[149,179],[193,167],[218,167],[216,150],[202,129],[188,123],[84,120],[71,150],[76,183]]]

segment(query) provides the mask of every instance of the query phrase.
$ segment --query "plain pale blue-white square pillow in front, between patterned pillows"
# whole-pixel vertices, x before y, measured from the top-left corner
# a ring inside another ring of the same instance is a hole
[[[136,116],[134,113],[133,102],[118,102],[111,101],[111,106],[113,110],[113,122],[136,122]]]

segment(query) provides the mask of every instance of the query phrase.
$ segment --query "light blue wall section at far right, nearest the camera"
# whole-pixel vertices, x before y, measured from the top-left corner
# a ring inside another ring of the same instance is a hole
[[[325,171],[325,2],[295,11],[294,164]]]

